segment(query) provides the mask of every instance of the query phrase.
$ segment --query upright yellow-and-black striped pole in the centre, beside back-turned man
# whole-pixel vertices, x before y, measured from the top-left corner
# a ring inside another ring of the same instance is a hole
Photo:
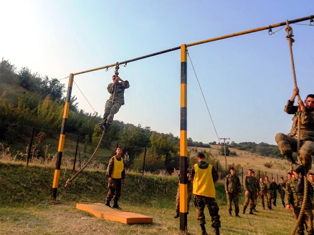
[[[187,227],[187,49],[181,45],[181,102],[180,102],[180,230]]]

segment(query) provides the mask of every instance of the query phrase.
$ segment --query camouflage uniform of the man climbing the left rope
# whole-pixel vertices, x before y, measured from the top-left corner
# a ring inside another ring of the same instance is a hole
[[[105,104],[105,114],[103,121],[104,123],[106,122],[107,124],[111,124],[113,117],[116,113],[118,113],[121,105],[124,105],[124,90],[130,87],[130,84],[128,81],[125,81],[127,84],[126,86],[123,85],[122,82],[118,82],[116,84],[116,91],[114,94],[114,101],[112,103],[112,97],[114,93],[114,87],[112,86],[113,83],[109,83],[107,87],[108,93],[110,93],[110,97],[107,100]]]

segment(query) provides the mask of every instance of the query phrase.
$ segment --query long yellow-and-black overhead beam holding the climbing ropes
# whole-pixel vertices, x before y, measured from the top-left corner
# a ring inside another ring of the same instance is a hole
[[[311,19],[314,19],[314,15],[303,17],[303,18],[299,18],[299,19],[295,19],[295,20],[291,20],[291,21],[289,21],[289,24],[298,23],[298,22],[302,22],[302,21],[307,21],[307,20],[311,20]],[[186,44],[186,47],[192,47],[192,46],[199,45],[199,44],[209,43],[209,42],[218,41],[218,40],[222,40],[222,39],[226,39],[226,38],[232,38],[232,37],[236,37],[236,36],[239,36],[239,35],[248,34],[248,33],[254,33],[254,32],[262,31],[262,30],[265,30],[265,29],[276,28],[276,27],[280,27],[280,26],[284,26],[284,25],[286,25],[286,22],[282,22],[282,23],[278,23],[278,24],[271,24],[271,25],[268,25],[268,26],[263,26],[263,27],[254,28],[254,29],[250,29],[250,30],[246,30],[246,31],[237,32],[237,33],[232,33],[232,34],[228,34],[228,35],[224,35],[224,36],[220,36],[220,37],[216,37],[216,38],[207,39],[207,40],[204,40],[204,41],[199,41],[199,42],[195,42],[195,43]],[[152,57],[152,56],[155,56],[155,55],[160,55],[160,54],[163,54],[163,53],[167,53],[167,52],[170,52],[170,51],[179,50],[180,48],[181,47],[173,47],[173,48],[170,48],[170,49],[162,50],[162,51],[159,51],[159,52],[155,52],[155,53],[152,53],[152,54],[140,56],[140,57],[137,57],[137,58],[134,58],[134,59],[131,59],[131,60],[126,60],[126,61],[122,61],[122,62],[118,62],[118,63],[119,63],[119,65],[128,64],[128,63],[136,61],[136,60],[141,60],[141,59],[145,59],[145,58]],[[91,70],[75,72],[75,73],[73,73],[73,75],[78,75],[78,74],[82,74],[82,73],[86,73],[86,72],[92,72],[92,71],[97,71],[97,70],[108,69],[108,68],[114,67],[114,66],[116,66],[116,63],[111,64],[111,65],[98,67],[98,68],[91,69]]]

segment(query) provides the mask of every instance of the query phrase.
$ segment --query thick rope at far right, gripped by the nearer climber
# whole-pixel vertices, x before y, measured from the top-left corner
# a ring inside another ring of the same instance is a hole
[[[294,82],[294,88],[298,88],[297,86],[297,83],[296,83],[296,75],[295,75],[295,68],[294,68],[294,60],[293,60],[293,52],[292,52],[292,43],[294,42],[294,39],[292,38],[293,37],[293,34],[292,34],[292,28],[290,27],[289,25],[289,21],[287,20],[286,21],[286,32],[287,32],[287,40],[288,40],[288,43],[289,43],[289,50],[290,50],[290,58],[291,58],[291,66],[292,66],[292,74],[293,74],[293,82]],[[298,99],[301,99],[300,97],[300,94],[298,94]],[[300,106],[298,108],[298,111],[300,109]],[[301,126],[301,122],[300,122],[300,112],[298,114],[298,132],[297,132],[297,137],[298,137],[298,140],[297,140],[297,152],[299,154],[299,150],[300,150],[300,147],[301,147],[301,141],[300,141],[300,126]],[[301,164],[301,163],[299,163]],[[303,184],[304,184],[304,194],[303,194],[303,202],[302,202],[302,206],[301,206],[301,210],[300,210],[300,213],[299,213],[299,216],[298,216],[298,219],[297,221],[295,222],[295,225],[290,233],[290,235],[294,235],[297,231],[297,229],[299,228],[300,224],[301,224],[301,220],[302,220],[302,217],[303,217],[303,214],[304,214],[304,210],[305,210],[305,205],[306,205],[306,201],[307,201],[307,197],[308,197],[308,180],[307,180],[307,177],[306,175],[303,176]]]

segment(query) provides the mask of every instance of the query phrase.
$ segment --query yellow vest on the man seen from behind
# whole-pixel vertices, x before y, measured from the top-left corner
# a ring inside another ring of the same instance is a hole
[[[195,176],[193,180],[193,194],[206,197],[216,196],[211,169],[211,164],[209,164],[207,169],[201,169],[197,164],[194,165]]]

